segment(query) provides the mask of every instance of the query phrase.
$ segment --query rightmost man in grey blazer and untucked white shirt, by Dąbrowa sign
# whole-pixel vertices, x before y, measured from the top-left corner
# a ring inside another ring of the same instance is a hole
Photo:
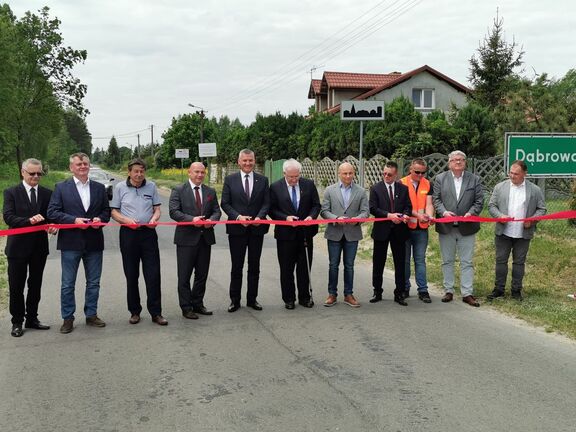
[[[524,161],[514,161],[504,180],[494,187],[488,211],[495,218],[524,219],[546,214],[546,203],[542,190],[525,179],[528,167]],[[488,300],[504,296],[508,276],[508,259],[512,252],[512,298],[522,301],[522,279],[524,263],[530,240],[534,237],[536,222],[497,223],[494,244],[496,246],[496,279],[494,290]]]

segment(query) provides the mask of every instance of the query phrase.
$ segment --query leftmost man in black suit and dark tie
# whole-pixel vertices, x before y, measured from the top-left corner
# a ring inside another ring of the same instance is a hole
[[[40,186],[42,162],[26,159],[22,163],[22,183],[4,191],[4,221],[9,228],[42,225],[47,222],[48,202],[52,191]],[[54,228],[48,229],[51,234]],[[48,235],[45,230],[29,234],[8,236],[8,285],[10,287],[10,314],[14,337],[24,334],[22,323],[26,317],[26,328],[48,330],[50,326],[38,320],[38,303],[42,288],[42,275],[48,256]],[[28,277],[28,294],[24,300],[24,288]]]

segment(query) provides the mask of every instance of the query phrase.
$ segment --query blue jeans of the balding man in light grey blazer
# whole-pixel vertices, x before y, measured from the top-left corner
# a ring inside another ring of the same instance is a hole
[[[328,293],[338,295],[338,270],[340,256],[344,252],[344,295],[351,295],[354,291],[354,260],[358,250],[357,241],[328,240]]]

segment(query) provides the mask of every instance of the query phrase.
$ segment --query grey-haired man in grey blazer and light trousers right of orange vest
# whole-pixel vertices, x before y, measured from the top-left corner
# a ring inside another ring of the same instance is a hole
[[[480,177],[466,171],[466,154],[456,150],[448,155],[449,171],[436,176],[432,201],[437,217],[478,216],[484,204],[484,192]],[[444,297],[442,302],[454,298],[454,261],[456,251],[460,256],[460,291],[462,301],[478,307],[474,298],[474,243],[480,230],[478,222],[454,222],[436,224],[442,254]]]

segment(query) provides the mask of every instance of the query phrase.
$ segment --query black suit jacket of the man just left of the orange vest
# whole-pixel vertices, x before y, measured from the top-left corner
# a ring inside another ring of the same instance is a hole
[[[394,211],[390,206],[390,193],[385,182],[379,181],[370,189],[370,213],[377,218],[388,217],[388,213],[403,213],[412,215],[412,202],[408,187],[397,181],[394,182]],[[405,223],[395,224],[392,221],[375,222],[372,227],[372,238],[378,241],[386,241],[394,229],[394,235],[398,239],[408,238],[408,226]]]

